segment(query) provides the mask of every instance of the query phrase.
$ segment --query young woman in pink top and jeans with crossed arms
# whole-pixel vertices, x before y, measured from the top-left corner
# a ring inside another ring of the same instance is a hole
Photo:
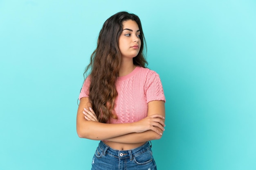
[[[92,170],[156,170],[150,140],[164,131],[164,92],[146,68],[137,15],[119,12],[103,24],[79,95],[79,137],[100,140]]]

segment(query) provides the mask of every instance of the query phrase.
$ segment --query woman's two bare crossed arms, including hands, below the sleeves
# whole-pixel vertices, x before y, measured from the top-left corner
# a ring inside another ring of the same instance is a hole
[[[164,101],[149,102],[146,118],[138,122],[124,124],[98,122],[90,106],[87,97],[81,98],[76,118],[76,130],[79,137],[126,144],[146,142],[162,137],[165,126]]]

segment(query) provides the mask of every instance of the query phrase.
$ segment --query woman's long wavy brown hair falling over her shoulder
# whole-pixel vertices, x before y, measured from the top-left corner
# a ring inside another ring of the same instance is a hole
[[[86,77],[86,73],[90,70],[89,100],[99,122],[107,123],[111,118],[117,119],[114,110],[114,101],[118,95],[115,83],[121,64],[118,41],[123,30],[123,22],[127,20],[137,22],[140,30],[141,47],[138,55],[133,58],[133,64],[144,68],[148,64],[144,57],[145,38],[139,17],[122,11],[108,18],[101,28],[97,48],[92,53],[90,64],[84,72],[84,77]]]

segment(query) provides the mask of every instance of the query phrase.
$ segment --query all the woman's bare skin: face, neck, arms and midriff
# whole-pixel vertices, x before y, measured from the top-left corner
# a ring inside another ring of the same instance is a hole
[[[123,22],[119,37],[121,67],[119,76],[125,76],[135,69],[132,58],[137,56],[141,46],[139,27],[135,21]],[[148,102],[148,116],[138,122],[124,124],[100,123],[91,107],[88,97],[81,98],[76,118],[79,137],[105,142],[117,150],[129,150],[143,145],[146,141],[160,139],[164,131],[164,101]]]

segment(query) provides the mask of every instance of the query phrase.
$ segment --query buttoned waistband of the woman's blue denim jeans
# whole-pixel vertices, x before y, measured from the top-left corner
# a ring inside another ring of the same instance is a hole
[[[133,159],[133,157],[136,157],[137,155],[140,155],[144,152],[146,152],[147,150],[151,149],[152,144],[151,142],[146,142],[145,144],[143,144],[142,146],[139,146],[137,148],[134,149],[130,149],[130,150],[116,150],[113,148],[110,148],[108,145],[106,145],[104,142],[99,142],[99,148],[103,151],[103,155],[109,154],[112,155],[113,157],[117,157],[119,159],[126,159],[126,158],[130,158],[130,160]]]

